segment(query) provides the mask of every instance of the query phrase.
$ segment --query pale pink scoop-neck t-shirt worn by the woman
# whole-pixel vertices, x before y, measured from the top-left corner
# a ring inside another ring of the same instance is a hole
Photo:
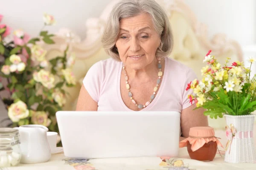
[[[122,101],[120,78],[122,62],[109,58],[95,63],[87,72],[83,84],[87,92],[98,103],[98,111],[132,111]],[[195,72],[184,64],[165,58],[162,84],[154,100],[141,111],[178,111],[191,104],[186,86],[196,77]]]

